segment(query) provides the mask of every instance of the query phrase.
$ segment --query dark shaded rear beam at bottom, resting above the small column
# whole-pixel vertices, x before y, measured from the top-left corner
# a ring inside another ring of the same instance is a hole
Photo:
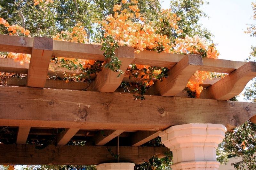
[[[68,146],[48,145],[36,149],[36,145],[0,145],[0,164],[7,165],[98,165],[116,162],[116,146]],[[141,164],[154,155],[168,153],[166,147],[120,146],[119,161]],[[114,156],[112,156],[114,155]]]

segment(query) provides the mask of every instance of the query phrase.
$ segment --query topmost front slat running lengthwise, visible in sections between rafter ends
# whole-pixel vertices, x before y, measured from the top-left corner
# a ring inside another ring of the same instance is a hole
[[[34,38],[0,35],[0,51],[31,54],[33,39]],[[103,51],[101,51],[100,48],[100,45],[54,40],[52,55],[102,61],[104,57]],[[139,54],[135,54],[132,63],[171,68],[183,57],[184,55],[182,54],[157,53],[144,50]],[[240,61],[215,60],[210,58],[204,58],[203,63],[204,65],[200,67],[199,70],[221,73],[231,73],[244,64],[244,62]]]

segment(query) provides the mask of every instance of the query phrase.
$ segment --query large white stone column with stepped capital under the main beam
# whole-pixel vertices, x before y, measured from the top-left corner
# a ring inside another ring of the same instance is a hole
[[[216,148],[225,138],[222,124],[182,124],[159,133],[173,155],[172,170],[217,170]]]

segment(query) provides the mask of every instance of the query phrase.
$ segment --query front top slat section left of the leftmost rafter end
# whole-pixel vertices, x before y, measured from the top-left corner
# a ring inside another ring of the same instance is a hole
[[[32,53],[34,38],[0,34],[0,51]]]

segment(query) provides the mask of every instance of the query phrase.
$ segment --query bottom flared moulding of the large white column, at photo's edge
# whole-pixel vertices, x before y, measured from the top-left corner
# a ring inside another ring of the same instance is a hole
[[[172,165],[172,170],[218,170],[218,161],[186,161]]]

